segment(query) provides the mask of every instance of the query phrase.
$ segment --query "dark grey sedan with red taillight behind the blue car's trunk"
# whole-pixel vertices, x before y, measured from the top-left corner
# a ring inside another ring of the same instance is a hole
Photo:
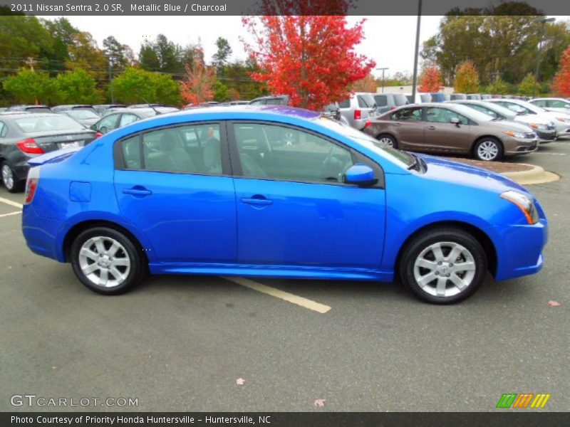
[[[52,113],[0,115],[2,184],[11,193],[24,189],[28,160],[40,154],[83,147],[97,137],[71,117]]]

